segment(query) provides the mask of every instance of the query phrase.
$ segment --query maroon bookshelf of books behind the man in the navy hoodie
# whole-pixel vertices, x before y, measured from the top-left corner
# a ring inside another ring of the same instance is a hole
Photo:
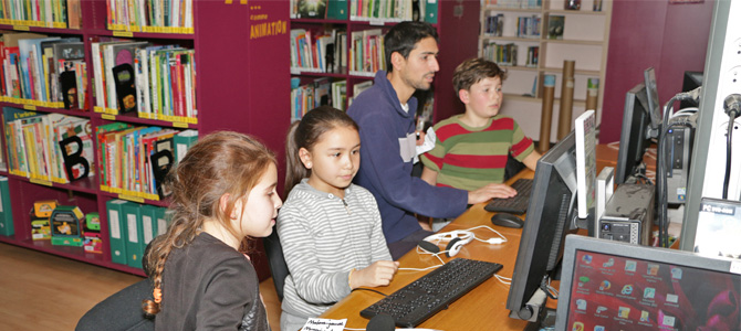
[[[292,120],[320,105],[346,109],[354,96],[373,84],[375,73],[386,70],[383,35],[409,20],[431,23],[440,41],[440,72],[417,114],[431,124],[462,111],[451,93],[452,71],[477,56],[479,1],[316,2],[291,1]]]

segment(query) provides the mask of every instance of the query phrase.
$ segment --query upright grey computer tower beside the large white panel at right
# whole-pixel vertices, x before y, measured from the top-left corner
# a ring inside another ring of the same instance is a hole
[[[676,121],[682,121],[687,126],[669,129],[665,138],[667,202],[683,204],[687,201],[687,178],[691,166],[696,116],[675,117],[669,124]]]

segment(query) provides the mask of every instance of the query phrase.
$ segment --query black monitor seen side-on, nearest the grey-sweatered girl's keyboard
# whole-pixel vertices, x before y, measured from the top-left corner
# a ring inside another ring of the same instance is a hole
[[[576,141],[572,131],[539,161],[507,298],[510,317],[534,321],[543,302],[531,299],[552,278],[563,239],[576,218]],[[543,297],[543,300],[545,297]]]

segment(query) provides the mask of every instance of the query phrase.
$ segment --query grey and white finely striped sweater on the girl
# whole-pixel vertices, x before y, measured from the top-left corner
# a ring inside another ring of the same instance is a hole
[[[320,316],[349,295],[351,269],[392,260],[376,200],[355,184],[345,189],[343,201],[304,179],[291,190],[276,227],[291,274],[283,288],[284,314]]]

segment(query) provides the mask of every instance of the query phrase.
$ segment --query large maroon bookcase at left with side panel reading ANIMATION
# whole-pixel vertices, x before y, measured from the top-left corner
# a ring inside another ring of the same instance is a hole
[[[250,134],[282,157],[289,116],[269,109],[289,108],[270,88],[290,84],[289,4],[50,2],[0,6],[0,242],[144,275],[167,172],[198,136]]]

